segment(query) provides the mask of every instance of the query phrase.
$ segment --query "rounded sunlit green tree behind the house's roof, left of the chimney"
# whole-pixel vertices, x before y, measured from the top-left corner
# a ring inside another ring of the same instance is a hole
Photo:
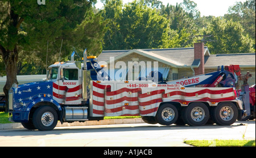
[[[144,6],[143,1],[125,5],[118,23],[126,49],[163,48],[167,45],[167,19],[156,9]]]

